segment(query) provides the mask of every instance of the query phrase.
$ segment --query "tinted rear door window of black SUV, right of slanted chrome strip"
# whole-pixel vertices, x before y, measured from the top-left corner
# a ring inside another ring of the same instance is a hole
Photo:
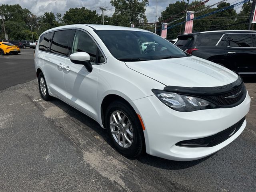
[[[230,47],[253,47],[251,34],[230,34],[228,42]]]

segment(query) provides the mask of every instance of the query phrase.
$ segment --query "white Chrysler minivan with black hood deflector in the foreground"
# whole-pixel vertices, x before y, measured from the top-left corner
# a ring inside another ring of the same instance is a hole
[[[153,42],[153,46],[142,45]],[[242,78],[136,28],[77,24],[42,33],[35,51],[44,100],[56,97],[106,128],[128,157],[189,161],[236,139],[250,96]]]

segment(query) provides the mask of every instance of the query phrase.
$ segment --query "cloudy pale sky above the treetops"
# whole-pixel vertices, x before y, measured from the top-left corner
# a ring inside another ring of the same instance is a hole
[[[170,3],[174,3],[177,0],[158,0],[157,18],[161,15],[161,12],[169,6]],[[190,0],[192,1],[192,0]],[[220,0],[210,0],[207,4],[212,5]],[[227,0],[230,4],[241,2],[242,0]],[[44,12],[61,13],[62,16],[70,8],[86,7],[91,10],[96,10],[98,14],[101,14],[100,6],[105,6],[108,10],[104,13],[111,16],[114,13],[114,7],[111,6],[110,0],[1,0],[1,4],[20,4],[22,8],[29,9],[33,14],[40,16]],[[236,12],[240,12],[242,6],[236,8]],[[149,5],[146,7],[146,16],[148,22],[155,22],[156,14],[156,0],[149,0]]]

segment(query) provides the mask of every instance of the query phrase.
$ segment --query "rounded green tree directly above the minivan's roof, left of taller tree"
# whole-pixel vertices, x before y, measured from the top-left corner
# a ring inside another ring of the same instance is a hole
[[[66,24],[97,24],[99,14],[85,7],[70,8],[63,16]]]

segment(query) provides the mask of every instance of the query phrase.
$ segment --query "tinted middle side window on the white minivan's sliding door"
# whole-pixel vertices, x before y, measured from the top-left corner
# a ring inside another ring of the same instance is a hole
[[[72,39],[72,30],[56,31],[52,38],[51,53],[62,56],[68,56],[70,50],[70,41]]]

